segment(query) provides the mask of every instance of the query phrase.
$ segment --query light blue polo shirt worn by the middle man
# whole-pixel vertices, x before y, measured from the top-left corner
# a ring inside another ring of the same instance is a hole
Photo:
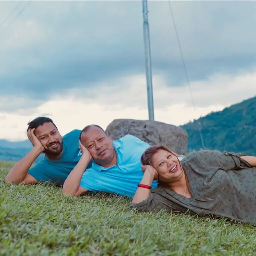
[[[93,162],[92,167],[84,172],[80,186],[93,193],[101,191],[133,197],[144,174],[140,158],[150,145],[135,136],[126,135],[113,141],[113,146],[117,165],[106,168]],[[154,180],[152,188],[156,186],[157,181]]]

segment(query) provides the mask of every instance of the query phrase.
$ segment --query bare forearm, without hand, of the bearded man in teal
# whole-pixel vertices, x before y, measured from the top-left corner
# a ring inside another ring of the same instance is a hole
[[[5,182],[14,184],[22,182],[29,168],[41,153],[42,151],[40,149],[32,148],[30,152],[10,170],[5,178]]]

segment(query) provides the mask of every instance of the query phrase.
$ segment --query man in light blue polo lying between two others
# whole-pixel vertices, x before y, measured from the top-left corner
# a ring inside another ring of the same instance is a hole
[[[150,145],[132,135],[112,141],[97,125],[86,126],[80,140],[83,155],[66,179],[63,194],[80,196],[101,191],[133,197],[143,176],[140,159]],[[91,158],[92,167],[84,172]],[[152,188],[156,186],[157,181],[153,181]]]

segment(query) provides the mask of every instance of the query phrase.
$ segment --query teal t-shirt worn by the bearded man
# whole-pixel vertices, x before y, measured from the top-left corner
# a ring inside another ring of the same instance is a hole
[[[60,159],[49,160],[46,157],[28,171],[38,182],[51,182],[63,185],[69,173],[74,169],[81,157],[78,146],[81,130],[73,130],[63,136],[63,153]],[[90,162],[86,169],[91,168]]]

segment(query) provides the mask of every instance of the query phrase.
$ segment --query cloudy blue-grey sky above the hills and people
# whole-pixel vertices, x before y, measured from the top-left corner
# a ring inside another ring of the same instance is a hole
[[[170,3],[195,109],[168,1],[148,1],[155,120],[181,125],[255,96],[256,1]],[[148,119],[142,1],[0,1],[0,139],[26,139],[39,115],[62,135]]]

